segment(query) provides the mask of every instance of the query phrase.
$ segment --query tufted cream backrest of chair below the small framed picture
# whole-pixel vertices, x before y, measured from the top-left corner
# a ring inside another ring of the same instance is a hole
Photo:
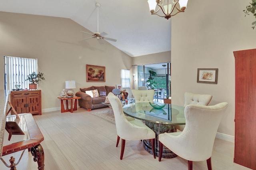
[[[184,106],[190,105],[190,104],[207,106],[212,100],[212,95],[196,94],[196,93],[190,93],[190,92],[185,92],[184,97],[185,97]]]

